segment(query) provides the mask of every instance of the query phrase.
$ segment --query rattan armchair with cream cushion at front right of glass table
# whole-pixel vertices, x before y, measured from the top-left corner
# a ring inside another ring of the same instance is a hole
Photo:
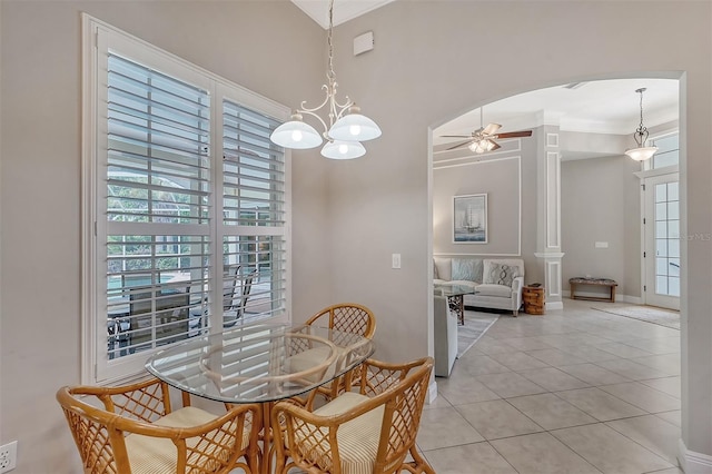
[[[271,412],[276,474],[435,474],[415,447],[433,358],[407,364],[368,359],[354,389],[310,412],[294,401]],[[407,461],[411,454],[412,461]]]

